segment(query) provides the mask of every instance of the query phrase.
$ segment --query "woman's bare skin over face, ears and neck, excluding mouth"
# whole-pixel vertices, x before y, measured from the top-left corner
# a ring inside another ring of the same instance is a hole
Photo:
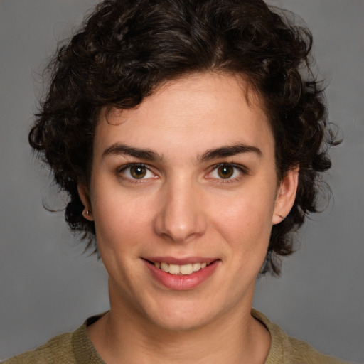
[[[235,145],[247,149],[208,154]],[[270,336],[250,314],[252,297],[272,225],[294,203],[297,174],[277,181],[267,115],[241,77],[189,75],[135,109],[102,112],[90,187],[79,191],[109,273],[111,309],[88,328],[103,360],[264,363]],[[218,262],[198,287],[178,291],[146,267],[143,258],[157,256]]]

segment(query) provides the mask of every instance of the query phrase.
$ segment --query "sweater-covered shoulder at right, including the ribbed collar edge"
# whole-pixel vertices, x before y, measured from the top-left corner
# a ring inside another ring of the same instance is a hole
[[[271,336],[271,348],[265,364],[348,364],[319,353],[305,341],[287,336],[282,328],[255,309],[252,309],[252,316],[267,327]]]

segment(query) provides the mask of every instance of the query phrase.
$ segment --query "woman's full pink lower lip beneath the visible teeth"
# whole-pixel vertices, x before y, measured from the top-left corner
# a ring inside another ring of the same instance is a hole
[[[200,269],[198,272],[193,272],[186,275],[176,275],[163,272],[161,269],[155,267],[154,264],[144,260],[146,267],[149,268],[156,281],[163,284],[164,287],[176,289],[178,291],[184,291],[198,287],[200,284],[205,282],[205,280],[208,279],[213,274],[213,272],[215,272],[219,262],[220,260],[215,260],[215,262],[212,262],[207,267]]]

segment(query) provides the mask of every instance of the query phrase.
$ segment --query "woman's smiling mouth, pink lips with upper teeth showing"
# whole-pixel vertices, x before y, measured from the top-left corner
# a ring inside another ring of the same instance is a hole
[[[168,289],[186,290],[205,282],[218,267],[220,259],[154,257],[143,259],[152,277]]]

